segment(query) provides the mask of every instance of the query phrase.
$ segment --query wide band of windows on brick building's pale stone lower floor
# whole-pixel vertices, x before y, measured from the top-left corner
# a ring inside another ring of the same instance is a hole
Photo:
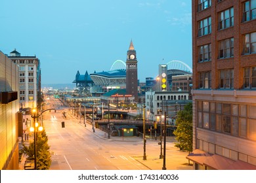
[[[196,102],[197,127],[256,140],[256,105]]]

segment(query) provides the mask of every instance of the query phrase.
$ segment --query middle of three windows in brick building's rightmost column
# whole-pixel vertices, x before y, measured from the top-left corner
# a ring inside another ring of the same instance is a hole
[[[244,35],[244,51],[243,54],[256,53],[256,32]]]

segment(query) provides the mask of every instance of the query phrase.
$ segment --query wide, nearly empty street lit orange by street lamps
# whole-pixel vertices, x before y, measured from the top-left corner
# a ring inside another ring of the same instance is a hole
[[[50,98],[46,108],[56,112],[45,112],[43,125],[49,139],[52,154],[52,170],[148,170],[150,167],[138,161],[143,156],[143,141],[139,137],[106,138],[100,129],[93,133],[90,124],[79,123],[79,119],[68,112],[58,99]],[[64,118],[62,112],[68,112]],[[64,122],[65,127],[62,127]],[[129,141],[127,141],[129,138]],[[167,146],[171,146],[171,142]],[[173,150],[167,150],[169,152]],[[177,151],[177,150],[176,150]],[[174,152],[174,151],[173,151]],[[176,152],[174,152],[176,153]],[[148,140],[146,155],[159,159],[158,141]],[[178,155],[179,156],[179,155]],[[181,154],[184,158],[184,154]],[[185,160],[185,159],[184,159]]]

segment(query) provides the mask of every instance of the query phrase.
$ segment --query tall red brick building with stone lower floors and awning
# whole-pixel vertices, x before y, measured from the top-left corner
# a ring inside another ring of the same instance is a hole
[[[256,0],[193,0],[194,169],[256,169]]]

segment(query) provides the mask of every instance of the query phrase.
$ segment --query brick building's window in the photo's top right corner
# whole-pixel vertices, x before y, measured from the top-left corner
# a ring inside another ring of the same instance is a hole
[[[246,1],[244,3],[243,20],[247,22],[256,18],[256,0]]]

